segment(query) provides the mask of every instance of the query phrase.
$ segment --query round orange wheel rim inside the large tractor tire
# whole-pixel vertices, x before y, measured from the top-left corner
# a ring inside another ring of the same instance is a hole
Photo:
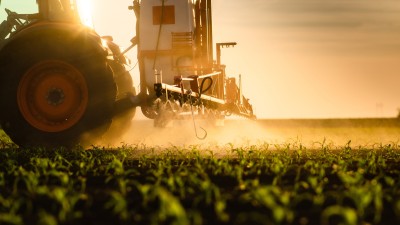
[[[57,60],[31,67],[18,85],[22,116],[45,132],[71,128],[82,118],[89,101],[85,77],[74,66]]]

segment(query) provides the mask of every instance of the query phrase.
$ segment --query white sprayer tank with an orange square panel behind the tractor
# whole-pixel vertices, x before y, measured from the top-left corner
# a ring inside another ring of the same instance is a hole
[[[141,1],[139,56],[144,61],[150,90],[155,69],[162,71],[162,82],[167,84],[174,83],[174,76],[192,73],[188,71],[193,68],[194,30],[192,0]]]

